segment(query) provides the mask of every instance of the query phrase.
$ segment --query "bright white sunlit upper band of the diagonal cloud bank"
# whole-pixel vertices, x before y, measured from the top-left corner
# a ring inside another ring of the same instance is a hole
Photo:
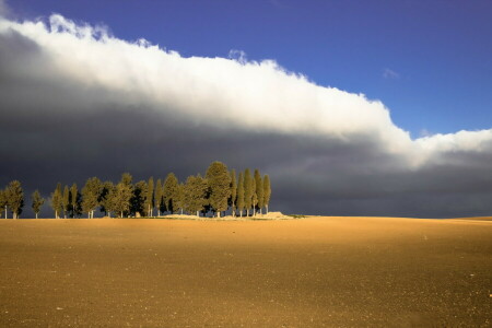
[[[411,167],[441,152],[483,151],[482,144],[492,140],[492,130],[412,140],[391,121],[382,102],[316,85],[273,60],[248,61],[243,51],[230,54],[233,59],[185,58],[147,40],[118,39],[104,27],[75,24],[61,15],[51,15],[48,26],[1,20],[0,33],[10,31],[40,47],[51,72],[45,79],[101,89],[106,91],[101,102],[145,104],[165,116],[192,118],[197,125],[349,143],[363,138],[401,156]],[[399,77],[389,69],[384,75]]]

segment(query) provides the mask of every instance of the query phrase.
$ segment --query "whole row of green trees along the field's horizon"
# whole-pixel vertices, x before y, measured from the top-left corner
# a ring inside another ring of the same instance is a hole
[[[249,168],[239,172],[229,171],[221,162],[210,164],[204,177],[200,174],[188,176],[179,183],[174,173],[169,173],[164,181],[153,177],[148,180],[132,181],[129,173],[124,173],[121,179],[102,181],[91,177],[79,190],[77,184],[62,186],[57,184],[50,194],[49,204],[55,218],[94,218],[98,209],[106,216],[161,216],[165,213],[184,213],[192,215],[221,216],[222,212],[231,210],[233,216],[249,216],[268,213],[271,198],[270,178],[261,176],[258,169],[251,174]],[[38,190],[31,196],[31,207],[38,218],[45,199]],[[24,192],[19,180],[11,181],[0,190],[0,209],[8,210],[12,218],[17,219],[24,207]]]

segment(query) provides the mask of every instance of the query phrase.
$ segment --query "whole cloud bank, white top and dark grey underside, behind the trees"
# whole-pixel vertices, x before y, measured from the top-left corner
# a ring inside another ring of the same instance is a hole
[[[272,60],[184,58],[60,15],[2,19],[0,106],[3,183],[49,191],[222,160],[268,172],[288,212],[492,212],[492,130],[412,140],[380,102]]]

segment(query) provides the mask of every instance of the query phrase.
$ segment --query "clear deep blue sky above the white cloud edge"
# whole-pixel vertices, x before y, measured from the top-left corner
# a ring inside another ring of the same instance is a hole
[[[9,1],[181,56],[274,59],[319,85],[377,98],[419,137],[489,129],[492,1]],[[386,73],[385,73],[386,72]]]

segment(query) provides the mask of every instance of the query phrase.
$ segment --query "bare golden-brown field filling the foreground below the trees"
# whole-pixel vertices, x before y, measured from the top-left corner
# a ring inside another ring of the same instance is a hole
[[[492,222],[0,220],[0,326],[492,324]]]

